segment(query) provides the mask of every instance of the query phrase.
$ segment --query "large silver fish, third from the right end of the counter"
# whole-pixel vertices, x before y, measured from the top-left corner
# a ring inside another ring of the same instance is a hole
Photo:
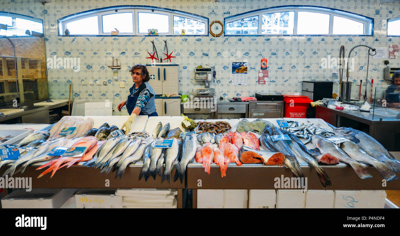
[[[330,142],[329,140],[319,135],[311,136],[311,140],[312,144],[320,149],[321,153],[332,155],[336,157],[339,161],[348,163],[354,169],[354,171],[356,171],[356,174],[361,179],[372,178],[372,175],[370,175],[360,163],[354,161],[342,149],[338,148],[333,142]]]

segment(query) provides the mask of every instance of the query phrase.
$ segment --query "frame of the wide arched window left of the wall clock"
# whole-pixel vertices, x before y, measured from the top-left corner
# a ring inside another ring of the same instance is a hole
[[[118,10],[118,12],[115,12]],[[104,33],[103,32],[103,25],[102,25],[102,16],[109,15],[109,14],[116,14],[116,13],[125,13],[125,12],[132,12],[133,14],[133,33],[118,33],[118,35],[111,35],[111,33]],[[169,17],[169,29],[168,33],[158,33],[158,35],[149,35],[148,33],[139,33],[139,25],[138,25],[138,13],[145,12],[145,13],[154,13],[154,14],[163,14],[168,15]],[[98,34],[70,34],[65,35],[64,31],[66,29],[66,24],[69,22],[73,22],[76,20],[80,20],[83,18],[88,18],[90,16],[97,16],[98,17]],[[205,32],[204,34],[174,34],[174,22],[173,17],[179,16],[184,18],[193,19],[196,21],[203,22],[205,24]],[[76,14],[68,15],[57,20],[58,24],[58,36],[208,36],[209,35],[209,19],[204,16],[200,16],[197,14],[192,14],[188,12],[182,12],[178,10],[168,9],[168,8],[159,8],[153,6],[137,6],[137,5],[125,5],[125,6],[111,6],[108,8],[97,8],[93,10],[88,10],[84,12],[78,12]]]

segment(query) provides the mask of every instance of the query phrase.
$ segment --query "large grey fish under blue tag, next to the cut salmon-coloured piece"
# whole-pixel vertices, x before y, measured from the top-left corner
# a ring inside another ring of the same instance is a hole
[[[279,128],[272,129],[273,135],[283,135]],[[296,156],[290,150],[288,143],[285,140],[278,140],[274,142],[276,148],[285,155],[285,165],[289,167],[295,177],[304,177],[303,171],[300,168],[300,163],[297,161]]]

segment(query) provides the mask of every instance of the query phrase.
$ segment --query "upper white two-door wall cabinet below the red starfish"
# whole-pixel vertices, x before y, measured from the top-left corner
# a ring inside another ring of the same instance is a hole
[[[178,65],[147,65],[150,85],[156,94],[179,93]]]

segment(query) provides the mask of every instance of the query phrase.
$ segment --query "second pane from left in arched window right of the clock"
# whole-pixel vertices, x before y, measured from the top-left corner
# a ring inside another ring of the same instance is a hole
[[[275,12],[262,15],[262,34],[293,34],[294,12]]]

